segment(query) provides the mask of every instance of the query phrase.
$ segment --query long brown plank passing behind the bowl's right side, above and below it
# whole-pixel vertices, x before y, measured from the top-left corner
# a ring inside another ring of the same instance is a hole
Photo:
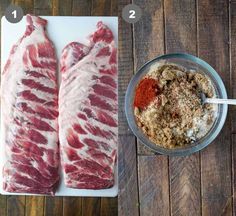
[[[228,2],[198,0],[199,56],[230,87]],[[201,152],[202,215],[232,215],[230,121]]]

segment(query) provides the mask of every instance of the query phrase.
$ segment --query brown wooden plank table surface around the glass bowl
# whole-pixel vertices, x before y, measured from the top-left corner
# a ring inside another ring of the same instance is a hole
[[[118,12],[129,4],[120,0]],[[155,155],[139,143],[124,114],[134,71],[165,53],[206,60],[236,98],[235,0],[133,0],[143,15],[134,25],[120,18],[120,215],[236,215],[236,108],[230,107],[217,139],[188,157]]]

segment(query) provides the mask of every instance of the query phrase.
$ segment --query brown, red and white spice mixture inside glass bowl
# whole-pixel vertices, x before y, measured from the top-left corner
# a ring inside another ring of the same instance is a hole
[[[178,65],[150,69],[136,87],[134,114],[151,141],[165,148],[193,143],[211,129],[217,106],[201,104],[200,93],[214,97],[206,75]]]

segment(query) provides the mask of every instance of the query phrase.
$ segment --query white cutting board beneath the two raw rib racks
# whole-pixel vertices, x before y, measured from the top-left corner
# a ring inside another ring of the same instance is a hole
[[[117,17],[73,17],[73,16],[41,16],[48,20],[47,33],[53,41],[59,59],[62,49],[72,41],[88,43],[87,37],[96,30],[98,21],[103,21],[113,32],[118,47],[118,18]],[[26,29],[25,17],[18,23],[9,23],[5,17],[1,19],[1,70],[9,57],[11,47],[23,36]],[[60,74],[58,74],[59,76]],[[58,77],[60,80],[60,76]],[[2,125],[2,124],[1,124]],[[1,140],[0,140],[1,141]],[[4,164],[4,146],[0,142],[0,193],[10,195],[22,195],[5,192],[2,188],[2,168]],[[118,167],[115,171],[115,185],[104,190],[84,190],[66,188],[61,174],[60,185],[56,196],[90,196],[90,197],[114,197],[118,193]],[[32,194],[23,194],[32,195]]]

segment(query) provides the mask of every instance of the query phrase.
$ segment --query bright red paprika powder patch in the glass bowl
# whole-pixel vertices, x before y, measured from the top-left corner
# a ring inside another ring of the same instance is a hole
[[[134,106],[145,109],[156,98],[159,92],[157,80],[144,78],[136,88]]]

